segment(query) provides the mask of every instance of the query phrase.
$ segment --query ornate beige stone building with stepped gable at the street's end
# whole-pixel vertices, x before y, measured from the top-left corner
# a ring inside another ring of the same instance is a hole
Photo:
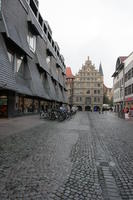
[[[92,65],[89,57],[78,74],[73,85],[73,105],[79,110],[98,110],[103,105],[103,71]]]

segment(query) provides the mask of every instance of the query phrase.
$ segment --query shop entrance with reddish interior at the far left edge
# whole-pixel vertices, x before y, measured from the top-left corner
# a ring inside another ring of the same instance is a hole
[[[0,117],[8,116],[7,96],[0,96]]]

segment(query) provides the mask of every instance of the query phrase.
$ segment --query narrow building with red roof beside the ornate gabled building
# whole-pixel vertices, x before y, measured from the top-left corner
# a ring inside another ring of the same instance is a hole
[[[67,89],[67,102],[70,106],[73,105],[73,84],[74,76],[72,74],[71,68],[66,67],[66,89]]]

